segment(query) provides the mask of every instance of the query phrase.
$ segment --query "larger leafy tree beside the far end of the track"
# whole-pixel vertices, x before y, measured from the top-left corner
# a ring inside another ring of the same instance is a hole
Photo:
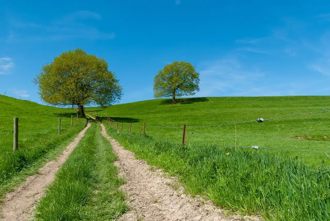
[[[43,65],[34,79],[40,98],[51,105],[77,105],[84,114],[86,105],[111,105],[121,99],[122,87],[103,58],[76,48],[63,52]]]

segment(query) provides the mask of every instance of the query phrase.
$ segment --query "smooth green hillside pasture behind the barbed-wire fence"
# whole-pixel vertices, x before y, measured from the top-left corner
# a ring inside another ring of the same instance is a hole
[[[330,141],[330,121],[328,120],[330,112],[286,117],[263,123],[255,121],[227,126],[189,127],[317,112],[322,111],[323,108],[330,109],[330,96],[190,98],[179,100],[175,105],[170,103],[170,99],[156,99],[113,105],[107,109],[87,108],[86,111],[92,116],[95,116],[93,111],[98,111],[100,115],[109,116],[124,124],[132,122],[132,131],[138,133],[142,133],[142,127],[138,126],[142,126],[145,122],[148,135],[176,139],[178,141],[174,142],[178,143],[182,142],[183,128],[148,128],[148,126],[174,127],[186,124],[188,127],[186,141],[191,143],[208,142],[329,151],[329,142],[304,141],[303,139]],[[123,131],[128,130],[129,126],[124,125]],[[294,140],[277,140],[278,138]],[[322,161],[327,165],[330,163],[330,158],[325,153],[287,152],[293,156],[302,157],[307,164],[312,166],[318,166]]]

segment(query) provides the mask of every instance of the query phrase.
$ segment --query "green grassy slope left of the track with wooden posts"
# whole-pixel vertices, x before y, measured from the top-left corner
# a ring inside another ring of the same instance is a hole
[[[71,109],[54,108],[0,95],[0,196],[55,157],[86,125],[71,126]],[[13,152],[13,117],[18,117],[18,151]],[[61,135],[58,136],[58,118]]]

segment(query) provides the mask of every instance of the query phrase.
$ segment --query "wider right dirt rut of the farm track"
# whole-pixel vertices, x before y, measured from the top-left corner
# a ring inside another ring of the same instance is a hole
[[[127,183],[122,186],[130,198],[133,211],[122,217],[122,220],[168,220],[168,221],[232,221],[258,220],[254,217],[225,216],[224,212],[215,208],[211,201],[182,194],[182,187],[175,178],[166,178],[160,169],[154,170],[144,160],[136,160],[134,153],[123,149],[110,138],[103,124],[102,135],[113,147],[118,161],[119,176],[125,176]]]

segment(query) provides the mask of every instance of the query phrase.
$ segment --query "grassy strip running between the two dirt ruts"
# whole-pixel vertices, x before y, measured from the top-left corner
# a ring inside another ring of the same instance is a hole
[[[92,123],[36,207],[36,220],[115,220],[128,210],[116,155]]]

